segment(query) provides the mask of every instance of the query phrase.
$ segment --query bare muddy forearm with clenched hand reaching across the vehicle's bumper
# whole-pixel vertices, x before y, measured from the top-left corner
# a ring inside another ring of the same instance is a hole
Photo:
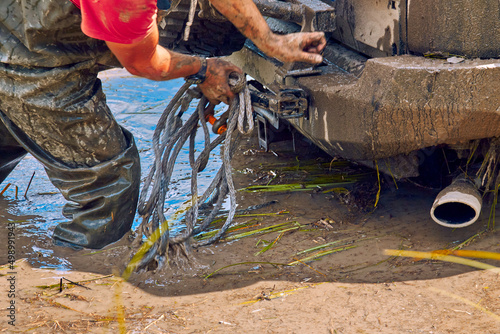
[[[322,32],[274,34],[252,0],[209,0],[266,55],[281,61],[320,63],[319,53],[326,46]]]

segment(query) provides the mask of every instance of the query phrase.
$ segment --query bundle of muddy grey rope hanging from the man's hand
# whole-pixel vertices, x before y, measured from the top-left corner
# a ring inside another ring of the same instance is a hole
[[[231,158],[237,146],[241,133],[247,134],[253,130],[253,114],[250,92],[243,75],[231,73],[229,85],[236,94],[227,114],[227,130],[214,140],[210,140],[210,131],[206,124],[208,99],[200,89],[190,87],[185,83],[172,98],[161,115],[153,135],[154,164],[144,181],[139,197],[138,212],[142,222],[138,229],[136,241],[142,242],[146,237],[149,249],[133,264],[136,270],[148,267],[152,262],[161,267],[169,251],[174,254],[185,252],[184,245],[189,242],[191,247],[211,244],[220,239],[231,225],[236,213],[236,189],[232,179]],[[196,111],[182,124],[181,116],[186,112],[193,99],[199,99]],[[195,156],[195,137],[199,128],[203,128],[204,149]],[[214,130],[217,124],[214,124]],[[238,128],[239,131],[235,131]],[[164,215],[165,199],[175,167],[177,156],[189,139],[189,163],[191,173],[191,207],[186,211],[184,222],[186,228],[178,235],[171,237],[167,219]],[[222,165],[205,192],[198,195],[198,173],[202,172],[208,163],[210,153],[223,144],[221,149]],[[229,195],[230,209],[220,230],[211,238],[194,242],[192,236],[205,231],[219,213],[225,198]],[[211,210],[198,222],[200,203],[204,207],[212,206]],[[160,233],[154,238],[153,234]],[[154,241],[151,241],[153,240]],[[177,247],[177,246],[179,247]],[[168,260],[167,260],[168,261]]]

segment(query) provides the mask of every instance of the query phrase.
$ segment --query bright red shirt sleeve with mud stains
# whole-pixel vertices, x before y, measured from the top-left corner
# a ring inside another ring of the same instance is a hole
[[[157,0],[71,0],[82,12],[85,35],[113,43],[132,44],[156,24]]]

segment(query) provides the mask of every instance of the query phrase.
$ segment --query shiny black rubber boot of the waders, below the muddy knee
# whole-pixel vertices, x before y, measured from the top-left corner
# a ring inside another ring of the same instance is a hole
[[[88,168],[52,166],[49,178],[66,199],[77,203],[65,210],[69,223],[54,238],[88,248],[102,248],[130,231],[140,185],[140,162],[132,135],[128,147],[113,159]]]

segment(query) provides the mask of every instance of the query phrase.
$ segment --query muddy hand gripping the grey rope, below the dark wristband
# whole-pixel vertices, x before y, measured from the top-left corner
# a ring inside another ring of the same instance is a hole
[[[207,59],[206,79],[199,87],[210,102],[229,104],[234,98],[234,93],[229,87],[229,74],[232,72],[243,73],[239,67],[227,61],[217,58]]]

